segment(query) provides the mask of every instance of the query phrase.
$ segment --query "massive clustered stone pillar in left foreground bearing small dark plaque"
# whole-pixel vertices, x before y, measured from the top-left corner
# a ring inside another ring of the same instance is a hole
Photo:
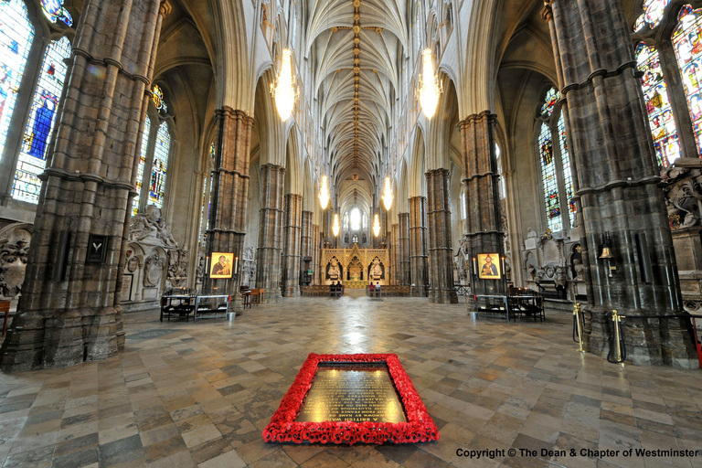
[[[83,6],[26,281],[0,351],[5,372],[104,359],[123,346],[125,223],[168,9],[160,0]]]

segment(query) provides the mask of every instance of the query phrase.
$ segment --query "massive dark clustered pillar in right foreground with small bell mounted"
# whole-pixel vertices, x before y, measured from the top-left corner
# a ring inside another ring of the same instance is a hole
[[[606,356],[612,310],[636,364],[697,367],[622,2],[546,0],[588,286],[585,339]],[[607,237],[612,261],[599,259]],[[616,270],[612,270],[612,265]]]

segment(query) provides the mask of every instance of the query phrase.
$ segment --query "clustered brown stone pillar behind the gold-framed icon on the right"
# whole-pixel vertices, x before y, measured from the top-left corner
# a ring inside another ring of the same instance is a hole
[[[495,172],[495,115],[485,111],[470,115],[458,123],[462,136],[463,190],[465,191],[465,227],[468,255],[477,259],[478,254],[497,254],[500,262],[504,256],[504,233],[501,227],[500,198]],[[473,294],[505,294],[502,280],[479,280],[471,261],[471,289]],[[480,269],[481,265],[477,265]],[[504,271],[502,271],[504,274]]]

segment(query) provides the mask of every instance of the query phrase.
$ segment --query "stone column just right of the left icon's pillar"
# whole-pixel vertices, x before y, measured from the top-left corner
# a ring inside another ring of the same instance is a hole
[[[261,165],[261,225],[257,251],[256,286],[266,290],[269,303],[281,301],[281,253],[285,168]]]

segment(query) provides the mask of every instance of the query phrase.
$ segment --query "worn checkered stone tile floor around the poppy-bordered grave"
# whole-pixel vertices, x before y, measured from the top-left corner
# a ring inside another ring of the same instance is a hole
[[[580,356],[570,314],[506,324],[473,321],[465,310],[356,295],[285,299],[233,322],[161,324],[155,312],[130,314],[119,357],[0,375],[0,465],[702,466],[702,451],[673,458],[623,452],[702,449],[702,371]],[[262,429],[310,352],[397,353],[441,441],[263,443]],[[542,449],[566,455],[542,456]],[[589,449],[619,454],[580,454]],[[471,460],[459,450],[498,452]]]

